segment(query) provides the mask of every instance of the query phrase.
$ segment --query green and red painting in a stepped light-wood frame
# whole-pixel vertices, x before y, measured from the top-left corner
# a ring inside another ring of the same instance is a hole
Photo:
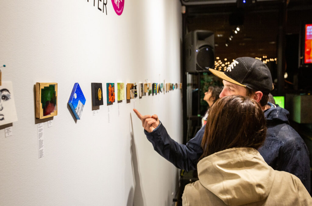
[[[57,83],[36,83],[36,118],[57,115]]]

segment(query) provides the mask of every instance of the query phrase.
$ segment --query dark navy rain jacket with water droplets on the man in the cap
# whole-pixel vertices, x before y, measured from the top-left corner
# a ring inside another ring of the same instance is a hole
[[[264,145],[258,149],[263,159],[273,169],[296,175],[310,193],[309,151],[300,135],[289,125],[289,112],[279,106],[264,111],[267,133]],[[179,144],[168,135],[163,124],[153,132],[144,130],[154,150],[176,167],[186,171],[196,169],[202,155],[203,126],[186,145]]]

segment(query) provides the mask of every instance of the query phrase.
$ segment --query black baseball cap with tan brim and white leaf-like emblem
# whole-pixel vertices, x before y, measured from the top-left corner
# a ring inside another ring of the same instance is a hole
[[[209,71],[225,81],[261,91],[265,95],[274,89],[269,68],[259,59],[252,57],[235,59],[224,72],[216,69],[209,69]]]

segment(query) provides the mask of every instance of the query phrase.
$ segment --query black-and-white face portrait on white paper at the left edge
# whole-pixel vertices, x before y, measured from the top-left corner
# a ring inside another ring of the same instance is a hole
[[[11,81],[2,81],[0,86],[0,125],[17,121],[17,114]]]

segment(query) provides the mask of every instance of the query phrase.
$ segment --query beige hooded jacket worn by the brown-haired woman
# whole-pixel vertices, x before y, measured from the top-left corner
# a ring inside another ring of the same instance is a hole
[[[183,206],[312,205],[295,175],[272,169],[253,148],[231,148],[197,164],[198,181],[185,186]]]

